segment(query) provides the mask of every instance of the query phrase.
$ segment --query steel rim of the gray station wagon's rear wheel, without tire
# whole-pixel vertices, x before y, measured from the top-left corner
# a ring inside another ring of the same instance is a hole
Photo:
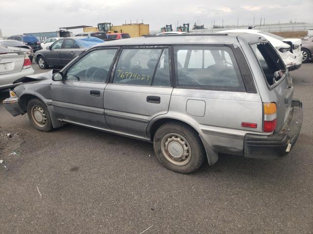
[[[166,160],[176,166],[186,165],[192,156],[188,141],[176,133],[169,133],[162,137],[161,152]]]

